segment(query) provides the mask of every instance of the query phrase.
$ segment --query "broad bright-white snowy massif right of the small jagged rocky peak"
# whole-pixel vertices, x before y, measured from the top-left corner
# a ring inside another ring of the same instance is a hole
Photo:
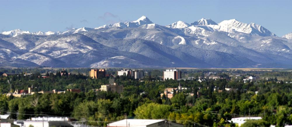
[[[238,31],[242,33],[247,33],[250,35],[259,35],[259,36],[276,36],[271,31],[267,30],[265,27],[255,24],[255,23],[242,23],[235,19],[232,20],[224,20],[220,22],[218,25],[208,25],[213,29],[217,29],[219,31],[225,31],[232,33],[233,31]]]

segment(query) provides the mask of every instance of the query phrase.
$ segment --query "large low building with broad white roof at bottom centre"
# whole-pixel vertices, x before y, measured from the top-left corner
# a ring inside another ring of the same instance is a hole
[[[108,124],[108,127],[183,127],[164,119],[124,119]]]

